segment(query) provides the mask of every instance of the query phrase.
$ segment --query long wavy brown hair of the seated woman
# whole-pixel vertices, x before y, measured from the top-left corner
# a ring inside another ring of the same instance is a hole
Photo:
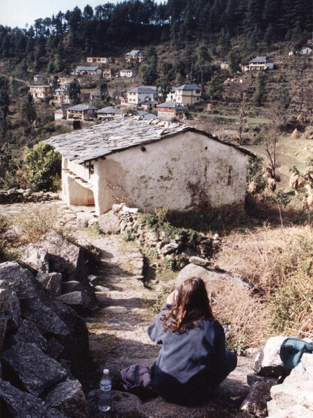
[[[171,320],[168,321],[169,318]],[[161,316],[163,330],[182,334],[187,328],[197,327],[202,319],[215,320],[204,281],[191,277],[182,282],[176,301]]]

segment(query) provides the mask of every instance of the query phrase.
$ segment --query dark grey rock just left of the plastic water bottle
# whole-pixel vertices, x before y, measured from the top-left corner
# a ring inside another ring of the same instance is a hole
[[[51,389],[44,400],[69,418],[88,417],[88,405],[78,380],[66,379]]]

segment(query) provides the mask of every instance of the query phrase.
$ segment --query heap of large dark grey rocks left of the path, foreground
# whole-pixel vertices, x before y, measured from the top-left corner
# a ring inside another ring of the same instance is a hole
[[[87,418],[86,398],[72,373],[89,369],[88,354],[88,330],[76,312],[26,268],[1,263],[3,417]]]

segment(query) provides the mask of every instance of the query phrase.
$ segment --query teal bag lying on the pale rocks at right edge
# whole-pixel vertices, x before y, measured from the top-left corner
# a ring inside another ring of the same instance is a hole
[[[300,363],[303,353],[313,353],[313,346],[295,336],[289,336],[280,346],[280,358],[287,374]]]

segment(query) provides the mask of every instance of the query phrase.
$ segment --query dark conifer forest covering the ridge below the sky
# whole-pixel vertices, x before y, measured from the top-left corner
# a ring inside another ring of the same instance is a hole
[[[117,54],[133,46],[170,41],[173,49],[214,42],[225,52],[234,36],[251,52],[264,43],[310,38],[310,0],[130,0],[38,17],[28,29],[0,26],[0,56],[21,71],[58,72],[79,54]]]

